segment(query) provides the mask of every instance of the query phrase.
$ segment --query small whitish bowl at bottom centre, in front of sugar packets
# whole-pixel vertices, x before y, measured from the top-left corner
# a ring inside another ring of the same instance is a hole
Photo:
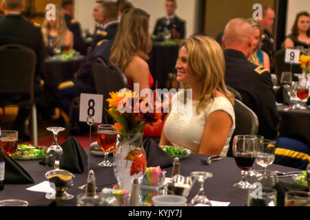
[[[185,206],[187,199],[180,195],[156,195],[154,206]]]

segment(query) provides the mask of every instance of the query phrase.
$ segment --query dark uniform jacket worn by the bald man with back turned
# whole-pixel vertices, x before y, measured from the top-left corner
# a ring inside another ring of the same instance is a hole
[[[236,89],[242,102],[258,117],[258,135],[274,139],[278,133],[280,116],[276,107],[271,74],[247,60],[238,50],[225,50],[225,83]]]

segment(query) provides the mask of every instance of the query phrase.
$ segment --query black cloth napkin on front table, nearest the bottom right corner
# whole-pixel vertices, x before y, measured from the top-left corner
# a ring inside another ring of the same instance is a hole
[[[277,206],[285,205],[285,192],[290,190],[298,190],[298,191],[308,191],[308,187],[300,186],[298,184],[289,184],[282,181],[279,181],[272,188],[277,190]]]

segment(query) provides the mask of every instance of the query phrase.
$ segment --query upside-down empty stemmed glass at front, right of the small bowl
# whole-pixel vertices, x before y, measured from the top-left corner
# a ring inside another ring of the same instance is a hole
[[[198,179],[198,183],[200,184],[200,189],[197,195],[189,202],[189,206],[211,206],[211,201],[205,196],[205,189],[203,185],[205,184],[205,179],[213,177],[212,173],[209,172],[192,172],[191,177],[194,179]]]

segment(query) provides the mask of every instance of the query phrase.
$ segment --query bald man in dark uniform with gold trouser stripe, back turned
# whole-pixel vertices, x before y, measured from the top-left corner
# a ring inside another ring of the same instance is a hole
[[[227,23],[223,38],[225,83],[236,89],[242,96],[242,102],[256,113],[258,135],[276,140],[274,163],[305,168],[309,161],[300,159],[298,153],[309,155],[309,147],[297,140],[278,137],[280,115],[269,70],[248,61],[253,50],[253,33],[246,19],[232,19]],[[287,156],[282,155],[282,152],[288,152]]]

